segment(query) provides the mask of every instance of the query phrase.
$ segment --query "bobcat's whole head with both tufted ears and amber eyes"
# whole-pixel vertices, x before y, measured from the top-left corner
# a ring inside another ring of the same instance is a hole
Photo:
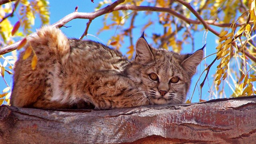
[[[151,48],[142,35],[136,42],[136,56],[128,76],[150,104],[184,103],[191,78],[203,59],[203,48],[193,54],[178,54]]]

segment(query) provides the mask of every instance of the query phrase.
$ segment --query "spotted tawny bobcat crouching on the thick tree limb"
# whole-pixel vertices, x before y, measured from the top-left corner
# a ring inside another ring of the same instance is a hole
[[[67,38],[61,30],[46,26],[26,44],[32,55],[14,67],[12,106],[27,108],[112,109],[149,104],[181,104],[191,78],[203,58],[177,54],[148,45],[142,35],[136,56],[128,61],[118,50],[91,40]],[[92,104],[92,105],[90,105]]]

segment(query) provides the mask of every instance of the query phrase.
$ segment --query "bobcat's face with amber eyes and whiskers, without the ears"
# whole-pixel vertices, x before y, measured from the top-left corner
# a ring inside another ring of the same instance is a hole
[[[172,52],[158,50],[158,54],[154,62],[143,66],[142,89],[150,104],[181,104],[186,99],[190,78]]]

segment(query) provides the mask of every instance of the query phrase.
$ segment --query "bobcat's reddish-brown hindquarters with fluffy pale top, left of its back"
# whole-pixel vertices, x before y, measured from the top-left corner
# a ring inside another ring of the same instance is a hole
[[[45,97],[52,95],[55,73],[63,60],[68,60],[70,44],[68,38],[58,29],[45,26],[38,30],[36,36],[29,38],[25,50],[20,52],[14,66],[14,85],[11,104],[17,107],[46,107]],[[31,63],[34,54],[24,59],[26,48],[32,47],[38,62],[35,70]],[[45,96],[46,95],[46,96]],[[40,100],[42,101],[41,105]],[[38,104],[38,105],[36,105]]]

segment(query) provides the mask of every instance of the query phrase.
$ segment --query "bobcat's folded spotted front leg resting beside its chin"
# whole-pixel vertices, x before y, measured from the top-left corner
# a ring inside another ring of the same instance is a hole
[[[143,91],[124,76],[95,74],[86,84],[86,95],[96,109],[112,109],[148,105]]]

